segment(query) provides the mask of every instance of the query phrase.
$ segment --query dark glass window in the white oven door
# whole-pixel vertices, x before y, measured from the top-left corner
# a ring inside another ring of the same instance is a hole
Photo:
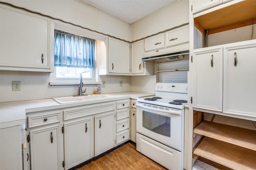
[[[169,137],[171,136],[170,117],[143,111],[142,126],[158,134]]]

